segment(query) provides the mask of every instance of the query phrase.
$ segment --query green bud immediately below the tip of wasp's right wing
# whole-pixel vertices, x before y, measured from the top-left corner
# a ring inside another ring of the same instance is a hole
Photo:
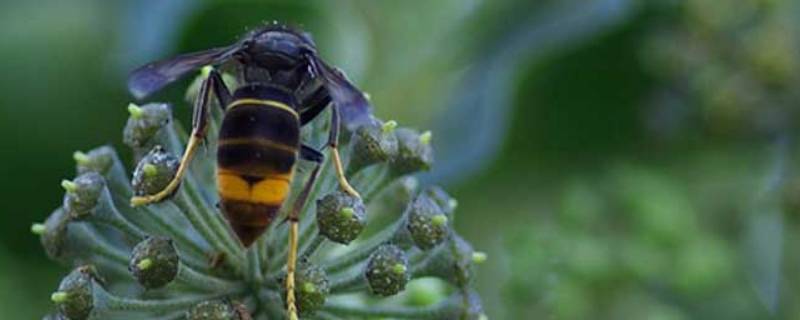
[[[376,120],[356,129],[350,142],[353,150],[348,172],[357,172],[394,157],[397,154],[396,126],[394,121],[380,123]]]

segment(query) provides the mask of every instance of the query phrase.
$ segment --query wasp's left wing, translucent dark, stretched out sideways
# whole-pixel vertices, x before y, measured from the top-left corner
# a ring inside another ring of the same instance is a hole
[[[237,44],[187,53],[144,65],[131,73],[128,78],[128,90],[136,99],[145,98],[191,71],[230,58],[239,47]]]

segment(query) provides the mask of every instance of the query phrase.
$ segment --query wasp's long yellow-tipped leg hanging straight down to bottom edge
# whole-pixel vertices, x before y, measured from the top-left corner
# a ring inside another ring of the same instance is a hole
[[[297,266],[297,237],[299,233],[298,222],[300,220],[300,211],[303,209],[303,206],[305,206],[306,201],[308,201],[311,188],[314,186],[317,176],[319,176],[319,168],[323,157],[321,153],[307,146],[301,148],[300,155],[303,159],[313,161],[316,164],[287,217],[289,220],[289,254],[286,258],[286,312],[290,320],[297,320],[297,305],[295,304],[294,296],[294,275]]]

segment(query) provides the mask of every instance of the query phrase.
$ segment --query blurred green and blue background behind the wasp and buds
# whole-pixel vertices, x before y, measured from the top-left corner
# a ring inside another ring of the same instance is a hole
[[[2,1],[0,318],[50,310],[30,224],[126,73],[275,19],[434,132],[490,319],[798,319],[799,2]]]

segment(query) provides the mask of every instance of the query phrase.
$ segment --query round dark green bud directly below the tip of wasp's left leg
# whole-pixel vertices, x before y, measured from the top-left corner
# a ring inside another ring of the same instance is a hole
[[[148,237],[133,248],[128,269],[143,287],[161,288],[178,275],[178,252],[166,237]]]

